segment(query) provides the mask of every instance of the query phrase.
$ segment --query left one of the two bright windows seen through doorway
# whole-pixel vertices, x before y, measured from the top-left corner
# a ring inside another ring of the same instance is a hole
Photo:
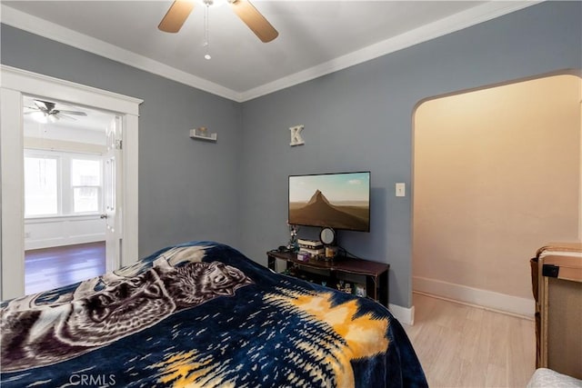
[[[58,158],[25,157],[25,216],[58,214]]]

